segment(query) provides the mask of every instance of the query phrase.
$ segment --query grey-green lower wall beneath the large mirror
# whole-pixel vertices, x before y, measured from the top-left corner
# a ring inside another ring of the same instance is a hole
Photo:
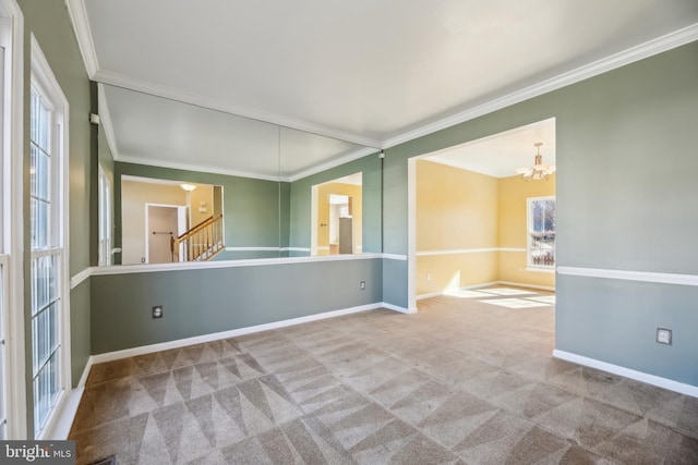
[[[275,264],[93,277],[94,354],[375,304],[382,260]],[[360,281],[366,289],[360,290]],[[128,290],[128,292],[125,292]],[[152,318],[163,305],[164,317]]]

